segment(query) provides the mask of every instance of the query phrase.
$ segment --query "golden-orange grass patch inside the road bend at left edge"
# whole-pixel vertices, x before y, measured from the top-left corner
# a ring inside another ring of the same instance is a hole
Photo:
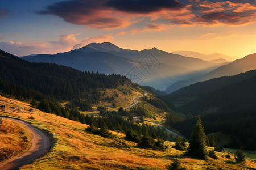
[[[31,140],[31,134],[22,124],[3,120],[3,124],[0,124],[0,161],[26,151]]]

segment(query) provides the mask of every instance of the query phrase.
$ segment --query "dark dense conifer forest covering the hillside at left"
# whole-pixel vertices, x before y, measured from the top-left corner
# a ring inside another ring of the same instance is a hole
[[[90,73],[53,63],[31,63],[2,50],[0,66],[1,80],[53,96],[56,100],[80,99],[99,88],[113,88],[119,82],[130,81],[121,75]],[[88,102],[94,103],[98,97],[94,92]]]

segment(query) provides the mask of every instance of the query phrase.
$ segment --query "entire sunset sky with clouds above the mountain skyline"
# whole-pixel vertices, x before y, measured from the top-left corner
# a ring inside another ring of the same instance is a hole
[[[242,58],[256,53],[256,0],[0,0],[0,49],[56,54],[92,42]]]

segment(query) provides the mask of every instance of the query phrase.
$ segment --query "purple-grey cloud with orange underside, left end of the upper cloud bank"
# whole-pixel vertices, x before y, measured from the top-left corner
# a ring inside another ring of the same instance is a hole
[[[127,27],[130,23],[113,13],[112,8],[105,6],[106,0],[71,0],[61,1],[46,7],[38,14],[53,14],[66,22],[86,25],[99,29]]]

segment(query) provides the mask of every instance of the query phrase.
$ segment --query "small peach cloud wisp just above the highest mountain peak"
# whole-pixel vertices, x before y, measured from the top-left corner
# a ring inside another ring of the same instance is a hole
[[[97,37],[88,37],[88,38],[82,40],[79,44],[74,45],[72,49],[81,48],[81,47],[88,45],[89,43],[92,43],[92,42],[97,42],[97,43],[112,42],[113,40],[114,40],[114,37],[111,34],[97,36]]]

